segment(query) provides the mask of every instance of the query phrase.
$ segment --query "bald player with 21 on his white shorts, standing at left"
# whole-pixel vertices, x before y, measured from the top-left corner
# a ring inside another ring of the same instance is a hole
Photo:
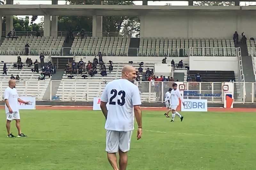
[[[9,80],[9,87],[7,87],[4,91],[4,102],[5,102],[5,113],[6,113],[6,129],[8,136],[7,137],[15,137],[10,133],[11,129],[11,121],[15,119],[16,127],[18,129],[17,137],[27,137],[23,133],[21,133],[20,129],[20,112],[18,102],[29,104],[28,101],[23,101],[20,99],[17,90],[15,89],[16,82],[15,80]]]

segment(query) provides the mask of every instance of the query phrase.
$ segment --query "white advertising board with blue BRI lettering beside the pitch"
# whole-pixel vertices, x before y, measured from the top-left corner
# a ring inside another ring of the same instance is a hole
[[[181,111],[184,112],[207,112],[206,99],[184,99],[184,104],[181,104]]]

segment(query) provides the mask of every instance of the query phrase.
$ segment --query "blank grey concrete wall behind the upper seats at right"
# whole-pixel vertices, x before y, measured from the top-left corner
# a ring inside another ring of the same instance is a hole
[[[177,10],[165,15],[156,13],[140,16],[140,36],[233,39],[233,33],[238,31],[239,35],[244,32],[249,39],[256,34],[255,19],[254,11]]]

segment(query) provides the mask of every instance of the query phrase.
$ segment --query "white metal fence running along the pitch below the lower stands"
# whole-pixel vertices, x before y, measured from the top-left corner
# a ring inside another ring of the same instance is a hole
[[[22,78],[22,75],[20,75]],[[100,97],[105,85],[110,80],[19,80],[16,89],[20,96],[34,96],[40,100],[58,101],[93,101],[94,97]],[[139,81],[135,84],[139,87],[142,102],[164,103],[164,94],[172,87],[174,82],[155,82],[152,86],[148,81]],[[184,99],[207,99],[209,103],[223,103],[225,93],[222,89],[223,82],[183,82],[185,90]],[[49,86],[48,86],[49,85]],[[256,103],[256,83],[233,82],[234,103]],[[0,100],[4,100],[4,89],[8,87],[8,80],[0,82]],[[35,88],[36,87],[36,88]],[[251,92],[246,96],[243,89]],[[48,90],[47,90],[48,89]]]

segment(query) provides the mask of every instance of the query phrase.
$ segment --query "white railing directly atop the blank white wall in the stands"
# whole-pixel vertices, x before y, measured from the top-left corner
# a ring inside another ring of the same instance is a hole
[[[189,56],[238,56],[235,47],[190,47]]]

